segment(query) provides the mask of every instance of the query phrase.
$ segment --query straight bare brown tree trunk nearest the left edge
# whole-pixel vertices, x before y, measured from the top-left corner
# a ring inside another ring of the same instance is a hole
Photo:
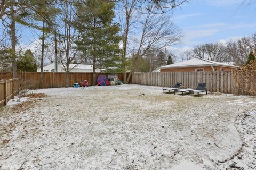
[[[15,36],[15,13],[13,5],[11,5],[11,41],[12,41],[12,77],[17,78],[17,62],[16,62],[16,36]]]

